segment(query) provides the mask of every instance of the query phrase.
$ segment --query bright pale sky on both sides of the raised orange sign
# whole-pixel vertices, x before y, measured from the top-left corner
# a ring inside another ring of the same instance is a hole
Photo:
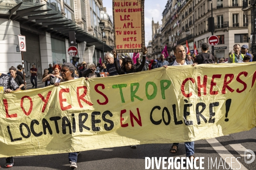
[[[108,15],[112,16],[112,0],[103,0],[103,6],[107,8]],[[152,40],[152,18],[154,23],[157,21],[162,24],[162,13],[166,6],[167,0],[145,0],[144,20],[145,20],[145,45]]]

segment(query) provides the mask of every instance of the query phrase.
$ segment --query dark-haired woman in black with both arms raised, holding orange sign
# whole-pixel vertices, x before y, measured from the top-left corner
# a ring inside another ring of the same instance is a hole
[[[145,61],[146,61],[146,54],[147,54],[147,48],[144,47],[143,48],[143,59],[142,59],[142,63],[140,65],[140,67],[136,68],[134,65],[133,60],[130,57],[126,57],[125,59],[123,59],[122,61],[122,65],[121,65],[121,69],[118,66],[118,61],[116,59],[116,49],[114,48],[112,53],[114,56],[114,63],[116,66],[116,71],[119,75],[121,74],[130,74],[130,73],[136,73],[136,72],[140,72],[143,70],[144,65],[145,65]]]

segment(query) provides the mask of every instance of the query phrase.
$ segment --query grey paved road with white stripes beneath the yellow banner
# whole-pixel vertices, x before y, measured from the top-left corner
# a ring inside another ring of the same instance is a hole
[[[221,136],[215,139],[199,140],[195,142],[195,156],[204,157],[203,167],[205,170],[223,170],[229,167],[230,157],[232,159],[232,169],[256,170],[256,160],[251,164],[244,163],[244,150],[250,149],[256,153],[256,128],[250,131],[235,133],[228,136]],[[81,152],[78,156],[77,170],[145,170],[145,157],[184,157],[186,156],[184,143],[181,143],[176,154],[169,153],[171,144],[143,144],[137,149],[130,146],[114,147],[108,149],[90,150]],[[226,163],[224,160],[226,157]],[[209,160],[217,163],[211,168]],[[223,167],[222,163],[223,162]],[[180,161],[180,160],[179,160]],[[0,165],[3,167],[4,158],[0,158]],[[219,166],[220,165],[220,166]],[[197,162],[199,166],[199,162]],[[216,167],[217,166],[217,167]],[[226,168],[225,168],[226,166]],[[168,162],[166,167],[168,167]],[[45,155],[45,156],[21,156],[15,157],[15,166],[12,170],[70,170],[65,154]],[[151,167],[150,167],[151,169]],[[156,165],[154,165],[154,169]],[[160,164],[162,169],[162,164]]]

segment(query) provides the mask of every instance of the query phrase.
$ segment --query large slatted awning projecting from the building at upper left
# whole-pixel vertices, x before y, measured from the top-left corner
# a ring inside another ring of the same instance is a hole
[[[99,38],[89,34],[72,20],[67,19],[46,4],[33,3],[30,0],[3,0],[0,3],[0,18],[15,20],[22,25],[65,38],[69,37],[69,31],[75,31],[77,42],[85,41],[87,46],[95,45],[96,49],[103,50],[102,41]],[[104,44],[104,51],[112,49]]]

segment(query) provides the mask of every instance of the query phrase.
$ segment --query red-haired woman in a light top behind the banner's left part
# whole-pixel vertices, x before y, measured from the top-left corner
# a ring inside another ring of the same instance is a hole
[[[46,82],[47,81],[47,85],[53,85],[55,82],[61,82],[62,81],[62,77],[61,77],[61,66],[58,64],[55,64],[52,66],[52,69],[54,71],[53,74],[48,74],[48,76],[44,77],[44,79],[42,79],[42,82]]]

